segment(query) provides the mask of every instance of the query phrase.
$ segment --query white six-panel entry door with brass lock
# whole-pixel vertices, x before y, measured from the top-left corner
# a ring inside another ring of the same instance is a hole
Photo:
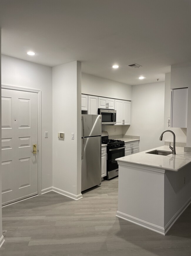
[[[38,194],[37,93],[1,89],[2,205]]]

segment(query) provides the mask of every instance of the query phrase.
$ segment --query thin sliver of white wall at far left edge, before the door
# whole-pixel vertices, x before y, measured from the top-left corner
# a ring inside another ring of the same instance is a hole
[[[1,49],[1,28],[0,28],[0,49]],[[1,80],[1,55],[0,55],[0,80]],[[1,92],[0,92],[0,125],[1,125]],[[0,126],[1,127],[1,126]],[[1,133],[0,133],[0,140],[1,140]],[[0,152],[0,164],[1,164],[1,152]],[[0,168],[0,191],[2,191],[2,169]],[[0,205],[2,205],[2,198],[0,196]],[[2,208],[0,209],[0,238],[2,236]],[[0,246],[2,241],[0,242]]]

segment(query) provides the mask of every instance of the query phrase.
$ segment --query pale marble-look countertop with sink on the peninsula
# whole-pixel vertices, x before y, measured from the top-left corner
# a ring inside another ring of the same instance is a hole
[[[131,163],[135,165],[144,165],[148,167],[154,167],[158,169],[165,169],[170,171],[179,171],[187,164],[191,163],[191,153],[184,152],[183,147],[176,147],[176,155],[161,156],[155,154],[146,154],[146,152],[153,151],[155,149],[163,151],[171,151],[169,146],[161,146],[154,149],[149,149],[129,156],[123,156],[115,159],[118,164]],[[171,151],[172,152],[172,151]],[[146,168],[145,168],[146,169]]]

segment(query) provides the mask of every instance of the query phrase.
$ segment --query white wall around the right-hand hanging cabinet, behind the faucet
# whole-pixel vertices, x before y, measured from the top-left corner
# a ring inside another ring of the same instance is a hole
[[[170,73],[165,74],[165,111],[164,111],[164,131],[171,130],[175,133],[176,142],[186,143],[186,128],[171,128],[168,127],[167,118],[170,117]],[[163,141],[173,141],[171,133],[164,133]]]

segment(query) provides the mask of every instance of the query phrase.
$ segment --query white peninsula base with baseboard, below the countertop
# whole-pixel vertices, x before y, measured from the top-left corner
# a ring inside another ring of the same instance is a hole
[[[116,217],[165,235],[191,203],[191,164],[178,172],[118,164]]]

